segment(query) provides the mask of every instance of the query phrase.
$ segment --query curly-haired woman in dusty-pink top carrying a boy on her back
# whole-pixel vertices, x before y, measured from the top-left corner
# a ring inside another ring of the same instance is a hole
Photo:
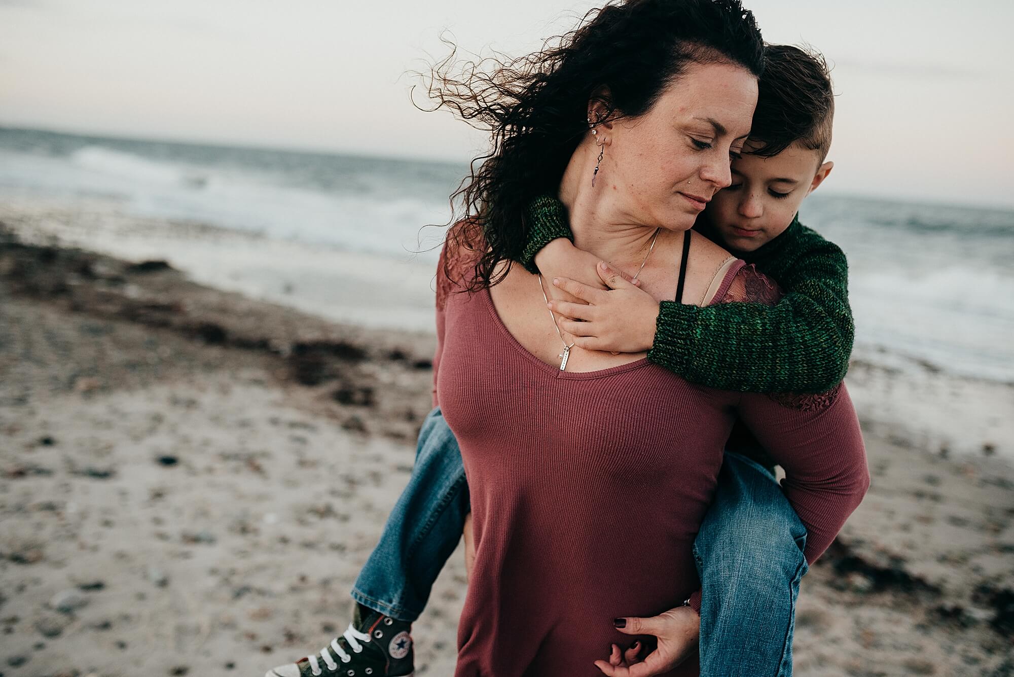
[[[694,536],[735,416],[786,468],[808,559],[868,483],[844,388],[800,410],[692,386],[644,354],[584,351],[546,307],[551,281],[509,265],[523,206],[555,191],[575,245],[640,271],[658,300],[774,298],[741,261],[687,235],[749,131],[752,17],[732,1],[629,2],[599,12],[558,58],[513,107],[467,87],[458,100],[475,94],[470,107],[442,99],[508,130],[464,190],[475,216],[448,234],[438,269],[434,403],[460,445],[475,532],[462,676],[600,674],[602,647],[630,640],[612,618],[689,597]],[[665,674],[696,673],[692,657]]]

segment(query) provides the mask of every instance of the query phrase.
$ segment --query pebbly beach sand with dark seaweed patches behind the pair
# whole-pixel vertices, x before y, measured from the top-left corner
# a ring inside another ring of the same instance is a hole
[[[260,677],[319,651],[411,471],[432,334],[0,239],[0,674]],[[796,674],[1014,674],[1014,464],[883,422],[866,442]],[[464,594],[459,547],[417,674],[452,672]]]

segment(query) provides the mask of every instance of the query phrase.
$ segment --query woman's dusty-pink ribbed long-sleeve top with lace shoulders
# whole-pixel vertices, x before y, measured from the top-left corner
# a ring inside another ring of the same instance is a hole
[[[844,386],[799,405],[692,385],[646,358],[560,371],[510,334],[489,290],[451,293],[446,254],[434,404],[461,450],[476,544],[455,677],[596,677],[610,643],[634,641],[612,618],[699,590],[692,547],[737,416],[786,470],[809,561],[859,505],[869,473]],[[737,262],[716,299],[774,289],[757,281]],[[698,672],[695,655],[666,674]]]

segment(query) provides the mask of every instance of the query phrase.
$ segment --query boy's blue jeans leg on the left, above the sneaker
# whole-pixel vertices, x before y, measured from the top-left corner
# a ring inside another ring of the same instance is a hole
[[[399,620],[415,621],[461,540],[469,510],[461,452],[437,406],[423,422],[409,485],[359,573],[352,598]]]

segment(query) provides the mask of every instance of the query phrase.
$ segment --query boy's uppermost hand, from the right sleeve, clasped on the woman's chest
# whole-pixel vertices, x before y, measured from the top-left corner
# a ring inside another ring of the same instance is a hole
[[[605,261],[599,261],[595,270],[608,287],[606,291],[570,278],[553,280],[557,289],[579,300],[578,303],[550,301],[550,310],[561,315],[560,328],[572,334],[575,344],[589,351],[647,351],[655,343],[658,301],[628,282]]]

